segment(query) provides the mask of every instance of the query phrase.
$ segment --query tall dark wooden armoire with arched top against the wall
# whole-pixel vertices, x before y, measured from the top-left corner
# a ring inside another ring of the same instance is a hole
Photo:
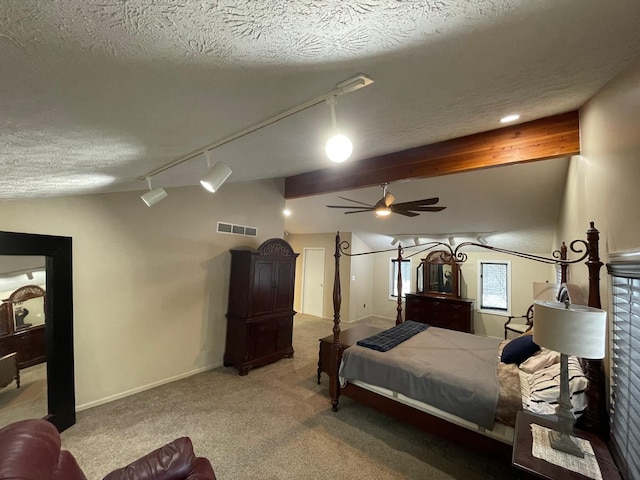
[[[224,365],[240,375],[293,357],[293,291],[296,258],[280,238],[257,250],[231,250]]]

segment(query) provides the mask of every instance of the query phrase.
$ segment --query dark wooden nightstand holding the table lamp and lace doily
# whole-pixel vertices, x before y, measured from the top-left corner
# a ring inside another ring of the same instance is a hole
[[[547,428],[557,428],[554,420],[520,411],[516,419],[516,428],[513,437],[513,457],[511,463],[514,467],[526,472],[525,478],[546,478],[548,480],[589,480],[589,477],[567,470],[559,465],[554,465],[541,458],[536,458],[531,453],[533,437],[530,425],[535,423]],[[607,444],[593,433],[576,430],[575,436],[591,442],[600,472],[604,480],[620,480],[620,472],[611,457]]]

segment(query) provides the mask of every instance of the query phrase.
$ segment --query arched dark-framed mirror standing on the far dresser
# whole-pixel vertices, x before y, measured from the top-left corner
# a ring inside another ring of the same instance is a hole
[[[460,297],[460,265],[446,250],[429,253],[421,262],[424,293]]]

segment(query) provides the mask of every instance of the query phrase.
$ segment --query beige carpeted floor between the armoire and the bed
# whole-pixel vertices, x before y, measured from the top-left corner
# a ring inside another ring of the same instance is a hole
[[[221,367],[79,412],[63,446],[89,480],[183,435],[219,480],[518,478],[349,399],[333,413],[327,377],[316,384],[318,339],[331,328],[296,315],[293,359],[245,377]]]

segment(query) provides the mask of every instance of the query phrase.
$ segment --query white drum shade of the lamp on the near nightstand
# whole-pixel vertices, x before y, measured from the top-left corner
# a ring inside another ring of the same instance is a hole
[[[535,302],[533,341],[566,355],[604,358],[607,312],[583,305]]]

